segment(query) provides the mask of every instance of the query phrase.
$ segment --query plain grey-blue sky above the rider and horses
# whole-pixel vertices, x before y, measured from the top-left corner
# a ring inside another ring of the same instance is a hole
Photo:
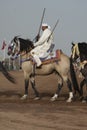
[[[3,40],[8,45],[17,35],[33,40],[44,8],[43,23],[53,29],[59,19],[53,34],[54,50],[61,49],[70,56],[72,41],[87,42],[87,0],[0,0],[0,48]]]

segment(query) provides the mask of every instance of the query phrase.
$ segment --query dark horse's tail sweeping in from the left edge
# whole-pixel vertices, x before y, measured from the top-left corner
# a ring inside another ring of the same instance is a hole
[[[6,68],[3,66],[2,62],[0,62],[0,71],[10,82],[16,83],[15,79],[11,76],[11,74],[8,73]]]

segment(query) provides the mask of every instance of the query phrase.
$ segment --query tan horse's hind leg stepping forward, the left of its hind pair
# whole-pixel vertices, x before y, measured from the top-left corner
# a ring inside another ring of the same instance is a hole
[[[51,98],[51,101],[55,101],[55,100],[58,98],[59,93],[60,93],[60,91],[61,91],[61,89],[62,89],[62,86],[63,86],[63,80],[62,80],[61,77],[59,77],[59,78],[58,78],[58,88],[57,88],[57,91],[56,91],[56,93],[54,94],[54,96]]]

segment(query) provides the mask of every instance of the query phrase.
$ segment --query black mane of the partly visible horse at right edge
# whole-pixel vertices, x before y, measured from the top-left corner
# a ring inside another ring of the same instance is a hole
[[[78,47],[79,47],[81,61],[87,60],[87,43],[79,42]]]

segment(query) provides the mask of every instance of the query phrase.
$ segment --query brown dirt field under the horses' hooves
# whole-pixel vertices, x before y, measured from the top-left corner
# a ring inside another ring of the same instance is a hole
[[[87,130],[87,104],[78,98],[66,103],[66,86],[57,101],[50,101],[57,87],[55,75],[36,77],[41,100],[33,100],[34,93],[29,86],[29,98],[22,101],[23,72],[10,73],[17,79],[17,84],[10,83],[0,72],[0,130]]]

